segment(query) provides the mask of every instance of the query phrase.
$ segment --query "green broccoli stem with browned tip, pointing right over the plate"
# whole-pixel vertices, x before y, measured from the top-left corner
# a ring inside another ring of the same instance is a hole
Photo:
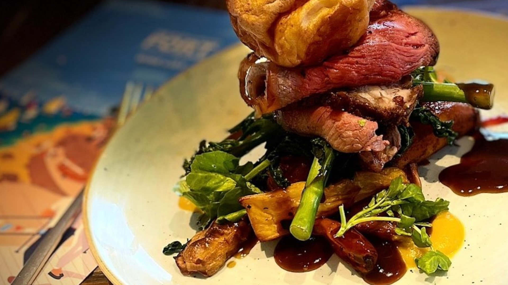
[[[423,102],[451,101],[469,103],[473,107],[489,110],[492,108],[494,92],[468,92],[454,83],[421,82],[423,86]],[[461,85],[462,86],[462,85]],[[463,84],[467,88],[467,84]]]

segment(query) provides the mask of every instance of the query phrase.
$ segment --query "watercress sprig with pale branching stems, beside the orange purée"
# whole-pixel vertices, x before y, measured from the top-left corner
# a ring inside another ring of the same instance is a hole
[[[339,207],[340,228],[335,236],[340,237],[347,230],[365,222],[395,222],[397,223],[396,234],[410,236],[418,247],[430,247],[430,252],[417,261],[420,269],[427,274],[431,274],[437,269],[448,270],[451,264],[450,259],[442,253],[434,251],[425,229],[431,224],[422,221],[434,217],[441,211],[448,210],[449,204],[448,201],[441,198],[435,201],[426,201],[420,187],[415,184],[404,184],[402,177],[398,177],[392,181],[387,190],[377,193],[366,207],[349,220],[346,219],[344,205],[341,205]],[[382,213],[386,213],[388,217],[379,216]]]

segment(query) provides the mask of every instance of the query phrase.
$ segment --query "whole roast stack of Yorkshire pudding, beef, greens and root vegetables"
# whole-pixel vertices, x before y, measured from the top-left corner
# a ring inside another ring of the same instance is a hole
[[[227,5],[253,51],[238,77],[254,112],[185,161],[178,192],[201,210],[202,231],[164,252],[183,274],[211,276],[253,235],[289,236],[326,243],[367,276],[382,258],[374,240],[412,240],[428,248],[421,271],[448,270],[429,232],[449,202],[425,200],[417,164],[474,129],[490,92],[439,80],[432,30],[386,0]]]

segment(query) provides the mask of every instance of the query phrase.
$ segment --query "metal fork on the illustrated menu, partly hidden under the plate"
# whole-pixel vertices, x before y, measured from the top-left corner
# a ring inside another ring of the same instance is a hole
[[[153,89],[151,87],[143,88],[143,84],[128,82],[125,85],[125,91],[118,111],[116,126],[113,131],[116,131],[119,127],[121,127],[129,116],[136,112],[142,97],[144,100],[148,100],[152,93]],[[78,196],[76,196],[69,208],[65,211],[65,213],[63,213],[56,225],[45,234],[39,246],[37,246],[34,253],[30,256],[26,264],[12,282],[12,285],[31,285],[37,276],[39,276],[39,273],[41,273],[42,269],[51,257],[51,254],[55,250],[56,245],[61,240],[63,233],[71,226],[81,212],[83,192],[84,188],[81,189]]]

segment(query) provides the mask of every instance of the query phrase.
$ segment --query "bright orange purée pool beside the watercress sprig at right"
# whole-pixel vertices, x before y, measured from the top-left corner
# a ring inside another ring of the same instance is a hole
[[[432,222],[432,234],[430,235],[432,246],[434,250],[440,251],[450,258],[462,247],[464,236],[464,226],[449,211],[439,213]],[[409,237],[404,237],[398,244],[398,248],[402,259],[409,268],[416,267],[415,258],[421,257],[428,251],[428,248],[416,246]]]

